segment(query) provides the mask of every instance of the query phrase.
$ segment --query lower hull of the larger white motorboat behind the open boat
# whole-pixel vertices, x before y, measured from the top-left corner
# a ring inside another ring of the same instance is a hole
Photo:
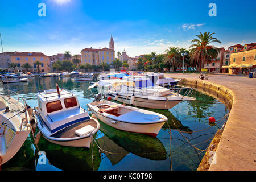
[[[111,97],[115,100],[114,94],[107,94],[108,97]],[[131,96],[118,96],[116,101],[125,102],[125,104],[130,105]],[[177,101],[163,101],[163,100],[149,100],[146,98],[134,98],[133,106],[150,108],[150,109],[171,109],[172,107],[179,104],[182,100]]]

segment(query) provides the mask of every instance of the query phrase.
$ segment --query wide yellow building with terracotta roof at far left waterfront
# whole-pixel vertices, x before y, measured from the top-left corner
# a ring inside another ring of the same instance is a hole
[[[50,59],[48,56],[44,55],[42,52],[19,52],[11,56],[11,63],[16,63],[19,68],[19,71],[26,72],[25,68],[22,68],[22,65],[28,63],[32,66],[29,68],[29,72],[37,72],[36,61],[40,61],[42,64],[39,65],[41,72],[49,72],[50,68]]]

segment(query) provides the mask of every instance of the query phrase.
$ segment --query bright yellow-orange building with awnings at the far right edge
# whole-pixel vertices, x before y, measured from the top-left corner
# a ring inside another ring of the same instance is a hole
[[[256,67],[256,43],[234,47],[230,52],[229,74],[248,74]]]

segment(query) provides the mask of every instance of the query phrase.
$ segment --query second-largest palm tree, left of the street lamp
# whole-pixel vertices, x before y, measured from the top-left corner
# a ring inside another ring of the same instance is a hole
[[[164,51],[167,53],[166,60],[164,60],[165,64],[172,64],[172,71],[174,72],[175,64],[177,64],[180,61],[180,53],[178,47],[169,47],[169,49],[166,49]]]

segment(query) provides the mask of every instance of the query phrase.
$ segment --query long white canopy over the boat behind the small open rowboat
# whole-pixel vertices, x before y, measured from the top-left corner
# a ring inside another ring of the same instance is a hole
[[[132,86],[134,87],[135,84],[133,81],[127,81],[127,80],[119,80],[119,79],[114,79],[114,80],[100,80],[96,82],[95,84],[91,85],[88,87],[88,89],[92,89],[95,86],[104,86],[104,87],[109,87],[113,86],[114,88],[120,86],[120,85],[126,85],[126,86]]]

